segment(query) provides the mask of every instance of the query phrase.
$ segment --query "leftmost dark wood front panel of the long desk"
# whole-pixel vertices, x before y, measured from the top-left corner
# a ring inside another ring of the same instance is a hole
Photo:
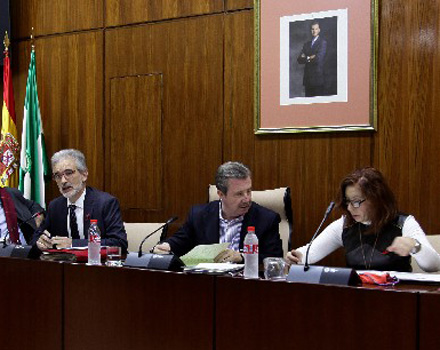
[[[62,349],[63,265],[0,258],[0,348]]]

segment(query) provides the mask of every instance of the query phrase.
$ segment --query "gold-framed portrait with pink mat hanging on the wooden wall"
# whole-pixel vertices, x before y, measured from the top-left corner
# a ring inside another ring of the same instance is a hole
[[[255,133],[374,131],[378,0],[255,0]]]

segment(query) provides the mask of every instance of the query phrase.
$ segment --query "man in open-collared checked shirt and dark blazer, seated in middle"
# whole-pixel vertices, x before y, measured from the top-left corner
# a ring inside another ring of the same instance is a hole
[[[250,170],[241,163],[227,162],[218,168],[215,182],[220,200],[192,207],[184,225],[153,252],[182,256],[199,244],[228,242],[229,248],[216,261],[242,263],[243,240],[248,226],[254,226],[260,263],[269,256],[281,257],[280,216],[252,202]]]

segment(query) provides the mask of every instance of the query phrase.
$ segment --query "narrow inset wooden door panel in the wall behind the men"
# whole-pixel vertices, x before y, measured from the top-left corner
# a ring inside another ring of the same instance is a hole
[[[123,208],[162,209],[162,76],[110,82],[110,144],[107,178]],[[139,161],[142,159],[142,161]],[[144,166],[147,163],[149,166]],[[127,181],[127,169],[130,180]],[[145,192],[138,193],[139,187]]]

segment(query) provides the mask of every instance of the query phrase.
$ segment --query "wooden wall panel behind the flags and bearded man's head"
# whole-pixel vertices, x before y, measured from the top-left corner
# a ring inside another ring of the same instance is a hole
[[[62,148],[78,148],[87,158],[88,182],[104,185],[103,35],[101,32],[44,37],[35,41],[37,84],[48,157]],[[20,74],[14,80],[21,133],[30,43],[19,44]],[[50,186],[49,199],[59,195]]]

